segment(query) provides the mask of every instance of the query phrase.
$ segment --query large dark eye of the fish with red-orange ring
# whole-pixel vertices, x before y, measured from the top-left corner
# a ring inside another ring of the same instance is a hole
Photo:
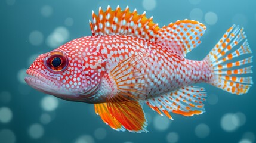
[[[45,58],[45,65],[48,70],[58,73],[64,71],[69,64],[69,60],[61,51],[54,51],[48,54],[48,57]]]

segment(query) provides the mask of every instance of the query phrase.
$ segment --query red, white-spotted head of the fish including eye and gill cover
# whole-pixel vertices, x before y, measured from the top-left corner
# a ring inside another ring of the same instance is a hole
[[[39,55],[26,71],[26,83],[64,100],[91,100],[97,94],[106,60],[89,47],[77,45],[70,41]]]

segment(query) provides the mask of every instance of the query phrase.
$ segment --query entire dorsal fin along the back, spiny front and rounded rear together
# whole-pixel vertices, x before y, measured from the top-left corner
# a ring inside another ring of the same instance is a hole
[[[200,38],[206,30],[205,25],[194,20],[178,20],[162,28],[153,23],[153,17],[147,18],[146,13],[138,14],[129,8],[124,11],[118,6],[106,11],[99,8],[98,15],[92,11],[90,27],[92,36],[129,35],[156,42],[172,52],[185,57],[193,48],[199,45]]]

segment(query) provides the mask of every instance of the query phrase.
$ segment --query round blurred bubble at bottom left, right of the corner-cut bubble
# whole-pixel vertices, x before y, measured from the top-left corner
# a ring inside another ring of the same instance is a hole
[[[38,139],[44,135],[44,127],[38,123],[34,123],[29,127],[29,135],[31,138]]]

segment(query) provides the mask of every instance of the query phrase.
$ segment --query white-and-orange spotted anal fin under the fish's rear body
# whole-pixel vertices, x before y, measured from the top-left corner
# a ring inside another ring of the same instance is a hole
[[[159,114],[164,113],[169,119],[172,119],[168,112],[182,114],[183,116],[204,113],[205,108],[203,108],[202,102],[205,101],[205,97],[204,88],[186,86],[159,97],[147,99],[146,104]]]

